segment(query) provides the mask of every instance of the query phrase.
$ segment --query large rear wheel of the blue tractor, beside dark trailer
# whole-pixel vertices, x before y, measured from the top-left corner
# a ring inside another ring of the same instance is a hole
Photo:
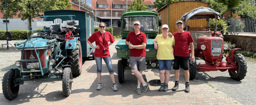
[[[72,74],[74,76],[81,75],[82,73],[82,49],[80,41],[77,41],[76,48],[67,50],[68,64],[71,65]]]

